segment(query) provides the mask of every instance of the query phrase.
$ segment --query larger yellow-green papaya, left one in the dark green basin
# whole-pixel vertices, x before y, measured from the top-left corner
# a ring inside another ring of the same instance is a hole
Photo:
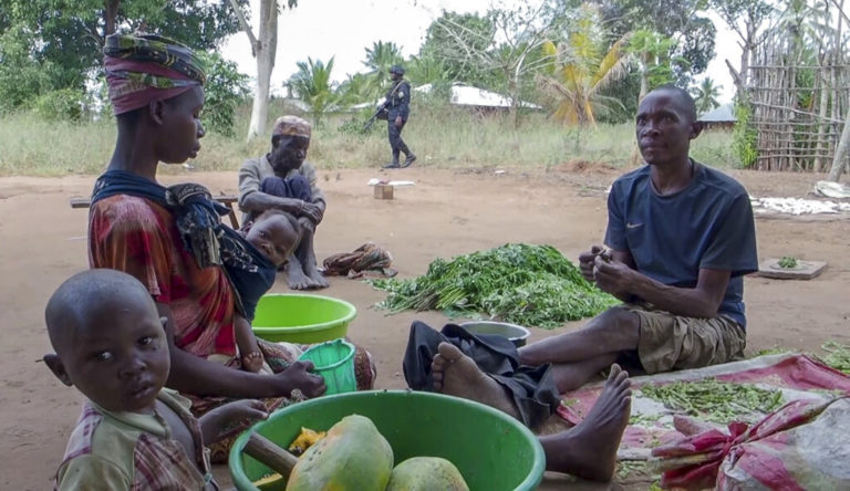
[[[287,491],[384,491],[393,449],[371,419],[351,415],[311,446],[287,482]]]

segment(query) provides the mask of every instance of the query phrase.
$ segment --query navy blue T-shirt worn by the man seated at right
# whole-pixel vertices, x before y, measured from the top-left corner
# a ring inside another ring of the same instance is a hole
[[[687,188],[659,196],[650,166],[614,181],[605,244],[629,251],[639,272],[671,286],[695,288],[699,269],[732,271],[718,314],[746,327],[744,279],[758,271],[756,229],[746,189],[694,163]]]

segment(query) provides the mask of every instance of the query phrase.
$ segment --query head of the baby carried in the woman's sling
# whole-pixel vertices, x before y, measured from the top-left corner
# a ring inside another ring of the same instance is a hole
[[[299,230],[294,217],[286,211],[271,209],[246,224],[245,238],[274,265],[281,267],[301,240]]]

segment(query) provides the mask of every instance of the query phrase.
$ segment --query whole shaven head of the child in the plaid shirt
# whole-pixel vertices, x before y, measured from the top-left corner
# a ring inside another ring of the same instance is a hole
[[[170,368],[154,300],[129,274],[90,270],[56,289],[44,311],[55,354],[44,363],[110,411],[149,412]]]

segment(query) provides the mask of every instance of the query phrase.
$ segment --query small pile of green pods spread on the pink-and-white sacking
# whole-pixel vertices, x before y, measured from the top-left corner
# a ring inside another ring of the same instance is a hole
[[[643,396],[668,409],[685,411],[706,421],[726,425],[753,422],[759,414],[768,414],[782,404],[781,390],[769,390],[753,384],[735,384],[711,378],[698,382],[674,382],[641,387]]]

